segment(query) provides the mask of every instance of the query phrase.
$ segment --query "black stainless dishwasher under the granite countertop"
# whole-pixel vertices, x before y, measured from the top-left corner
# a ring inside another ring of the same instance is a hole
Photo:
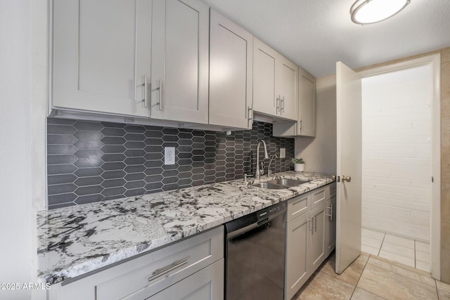
[[[286,202],[225,224],[225,299],[283,300]]]

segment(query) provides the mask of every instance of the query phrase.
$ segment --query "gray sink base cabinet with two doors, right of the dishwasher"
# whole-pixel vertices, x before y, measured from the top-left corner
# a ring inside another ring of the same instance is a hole
[[[285,299],[292,299],[335,247],[333,187],[334,183],[288,201]]]

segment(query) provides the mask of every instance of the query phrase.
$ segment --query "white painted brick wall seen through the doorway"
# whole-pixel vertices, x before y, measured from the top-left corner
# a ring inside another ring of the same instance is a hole
[[[363,79],[363,227],[430,240],[430,66]]]

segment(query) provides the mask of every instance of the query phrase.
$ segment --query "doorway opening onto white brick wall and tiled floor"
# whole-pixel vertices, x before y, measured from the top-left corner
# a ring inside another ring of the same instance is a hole
[[[378,256],[434,278],[440,277],[439,60],[361,72],[362,250],[378,248]]]

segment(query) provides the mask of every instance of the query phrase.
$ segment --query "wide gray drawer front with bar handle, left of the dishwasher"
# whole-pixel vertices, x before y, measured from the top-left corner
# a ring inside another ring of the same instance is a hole
[[[96,300],[146,299],[223,256],[224,228],[220,226],[129,261],[136,268],[96,285]]]

